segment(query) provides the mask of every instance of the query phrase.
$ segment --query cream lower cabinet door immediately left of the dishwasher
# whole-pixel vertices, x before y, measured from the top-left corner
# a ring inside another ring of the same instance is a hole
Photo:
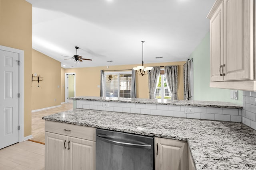
[[[95,142],[68,137],[68,170],[95,170]]]

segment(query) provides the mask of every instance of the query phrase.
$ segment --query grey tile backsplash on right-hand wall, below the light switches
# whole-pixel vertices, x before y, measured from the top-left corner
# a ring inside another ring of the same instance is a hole
[[[244,91],[242,123],[256,129],[256,92]]]

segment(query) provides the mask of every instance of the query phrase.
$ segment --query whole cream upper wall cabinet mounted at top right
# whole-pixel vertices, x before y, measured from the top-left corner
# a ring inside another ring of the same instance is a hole
[[[210,87],[256,90],[254,0],[216,0],[207,18],[210,19]]]

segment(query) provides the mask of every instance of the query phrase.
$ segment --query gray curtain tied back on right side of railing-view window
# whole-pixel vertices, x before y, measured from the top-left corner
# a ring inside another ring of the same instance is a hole
[[[178,100],[178,66],[164,66],[167,86],[172,93],[172,100]]]

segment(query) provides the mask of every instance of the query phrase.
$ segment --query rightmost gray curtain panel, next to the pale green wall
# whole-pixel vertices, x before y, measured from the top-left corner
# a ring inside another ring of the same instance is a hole
[[[183,65],[184,100],[192,100],[192,65],[193,60],[188,60]]]

